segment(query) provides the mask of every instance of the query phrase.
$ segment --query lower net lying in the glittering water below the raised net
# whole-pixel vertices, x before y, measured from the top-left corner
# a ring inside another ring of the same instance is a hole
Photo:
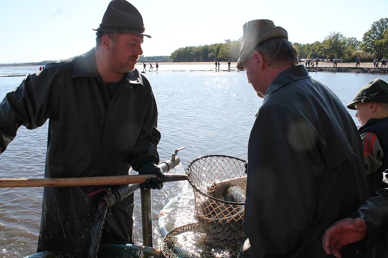
[[[241,245],[220,246],[198,223],[175,228],[161,243],[161,258],[237,258]]]

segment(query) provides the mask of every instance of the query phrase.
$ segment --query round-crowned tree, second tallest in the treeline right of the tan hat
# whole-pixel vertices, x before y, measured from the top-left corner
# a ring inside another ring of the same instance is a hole
[[[330,59],[341,58],[345,45],[345,37],[341,32],[331,32],[322,42],[323,55]]]

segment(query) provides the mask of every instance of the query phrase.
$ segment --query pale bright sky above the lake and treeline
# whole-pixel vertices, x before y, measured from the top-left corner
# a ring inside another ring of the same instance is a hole
[[[0,0],[0,63],[62,60],[95,46],[109,0]],[[388,17],[387,0],[131,0],[142,14],[144,56],[237,40],[242,25],[271,19],[301,44],[333,31],[361,41]]]

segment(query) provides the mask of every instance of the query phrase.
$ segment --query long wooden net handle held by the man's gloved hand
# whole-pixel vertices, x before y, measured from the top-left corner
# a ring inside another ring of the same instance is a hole
[[[187,175],[165,174],[163,182],[187,180]],[[106,177],[69,177],[69,178],[19,178],[0,179],[0,188],[8,187],[63,187],[63,186],[86,186],[86,185],[117,185],[144,183],[146,179],[157,175],[128,175]]]

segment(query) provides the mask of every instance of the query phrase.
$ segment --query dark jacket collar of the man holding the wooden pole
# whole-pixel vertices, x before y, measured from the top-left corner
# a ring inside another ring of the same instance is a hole
[[[142,76],[137,69],[125,74],[125,76],[127,76],[128,83],[144,86]],[[71,77],[100,77],[97,70],[94,48],[75,58]]]

